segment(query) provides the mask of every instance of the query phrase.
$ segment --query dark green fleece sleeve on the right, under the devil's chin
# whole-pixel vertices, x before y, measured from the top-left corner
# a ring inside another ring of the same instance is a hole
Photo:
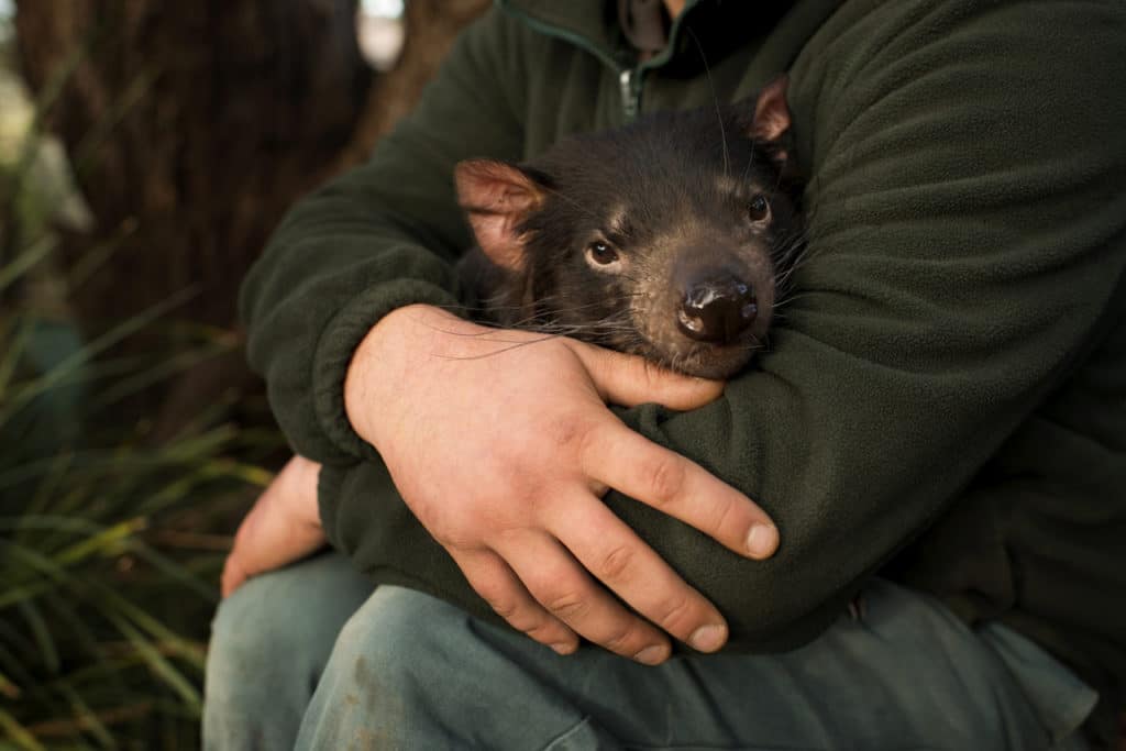
[[[608,499],[747,649],[825,627],[1121,309],[1121,5],[861,6],[792,71],[810,238],[774,351],[705,409],[623,413],[777,520],[757,563]]]

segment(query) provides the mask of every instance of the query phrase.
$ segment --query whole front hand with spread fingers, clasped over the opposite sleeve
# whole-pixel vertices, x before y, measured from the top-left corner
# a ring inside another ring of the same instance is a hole
[[[512,626],[561,653],[580,634],[655,664],[670,652],[663,632],[711,652],[726,624],[601,502],[607,489],[750,557],[771,555],[778,536],[745,495],[606,403],[688,410],[722,391],[635,356],[412,305],[360,343],[345,404],[419,521]]]

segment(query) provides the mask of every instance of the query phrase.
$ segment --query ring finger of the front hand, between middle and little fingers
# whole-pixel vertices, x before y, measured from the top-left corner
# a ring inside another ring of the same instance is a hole
[[[535,545],[510,544],[497,552],[536,601],[587,640],[645,664],[669,658],[668,637],[623,607],[557,540],[545,536]]]

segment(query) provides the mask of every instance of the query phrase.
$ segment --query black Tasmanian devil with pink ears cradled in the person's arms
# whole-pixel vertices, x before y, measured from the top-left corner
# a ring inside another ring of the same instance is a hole
[[[763,346],[802,250],[786,80],[727,106],[461,162],[471,307],[726,378]]]

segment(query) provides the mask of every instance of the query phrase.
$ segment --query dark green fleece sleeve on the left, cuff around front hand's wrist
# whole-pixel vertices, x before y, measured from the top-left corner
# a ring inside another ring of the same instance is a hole
[[[463,34],[406,122],[368,163],[298,203],[243,284],[251,366],[304,456],[328,464],[376,457],[345,415],[352,352],[395,307],[456,302],[453,263],[472,240],[454,197],[454,166],[521,155],[522,88],[507,23],[492,12]]]

